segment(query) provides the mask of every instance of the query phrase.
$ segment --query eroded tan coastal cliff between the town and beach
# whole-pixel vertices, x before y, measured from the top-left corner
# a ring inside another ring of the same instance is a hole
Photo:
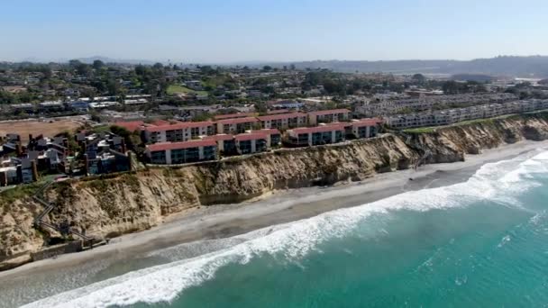
[[[238,203],[279,189],[360,181],[413,168],[421,159],[429,164],[462,161],[466,154],[505,143],[547,140],[547,119],[548,113],[514,115],[337,145],[61,182],[45,193],[56,206],[44,220],[68,222],[87,236],[112,238],[149,229],[169,214],[196,206]],[[14,193],[7,193],[0,195],[0,269],[31,261],[33,252],[60,240],[54,231],[33,229],[33,218],[43,207],[31,194],[14,198]]]

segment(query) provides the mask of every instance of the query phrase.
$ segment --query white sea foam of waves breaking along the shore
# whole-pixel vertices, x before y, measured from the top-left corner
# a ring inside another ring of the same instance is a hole
[[[516,204],[516,196],[538,186],[520,181],[548,174],[548,152],[531,159],[512,159],[480,168],[470,179],[454,186],[407,192],[371,204],[336,210],[299,222],[281,224],[235,237],[234,246],[203,256],[150,267],[57,294],[26,307],[106,307],[173,300],[184,289],[200,285],[229,263],[245,264],[269,253],[298,260],[324,240],[342,237],[374,213],[397,210],[429,211],[467,206],[481,200]],[[465,283],[465,281],[464,281]]]

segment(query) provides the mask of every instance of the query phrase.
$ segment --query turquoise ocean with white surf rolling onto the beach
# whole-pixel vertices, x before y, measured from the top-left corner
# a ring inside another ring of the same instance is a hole
[[[547,306],[547,188],[548,151],[537,150],[460,184],[83,267],[62,282],[37,276],[25,282],[32,292],[64,292],[26,307]],[[71,279],[87,285],[66,290]]]

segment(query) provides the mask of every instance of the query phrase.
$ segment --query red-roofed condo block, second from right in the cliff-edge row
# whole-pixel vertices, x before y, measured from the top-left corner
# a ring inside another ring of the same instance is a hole
[[[343,124],[303,127],[287,131],[286,142],[290,146],[315,146],[342,142],[344,135]]]

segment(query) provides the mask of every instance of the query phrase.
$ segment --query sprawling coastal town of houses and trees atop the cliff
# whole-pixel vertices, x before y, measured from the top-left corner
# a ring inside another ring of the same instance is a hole
[[[548,109],[548,80],[294,65],[0,63],[0,109],[0,186],[9,186],[533,112]],[[42,129],[56,123],[59,131]]]

